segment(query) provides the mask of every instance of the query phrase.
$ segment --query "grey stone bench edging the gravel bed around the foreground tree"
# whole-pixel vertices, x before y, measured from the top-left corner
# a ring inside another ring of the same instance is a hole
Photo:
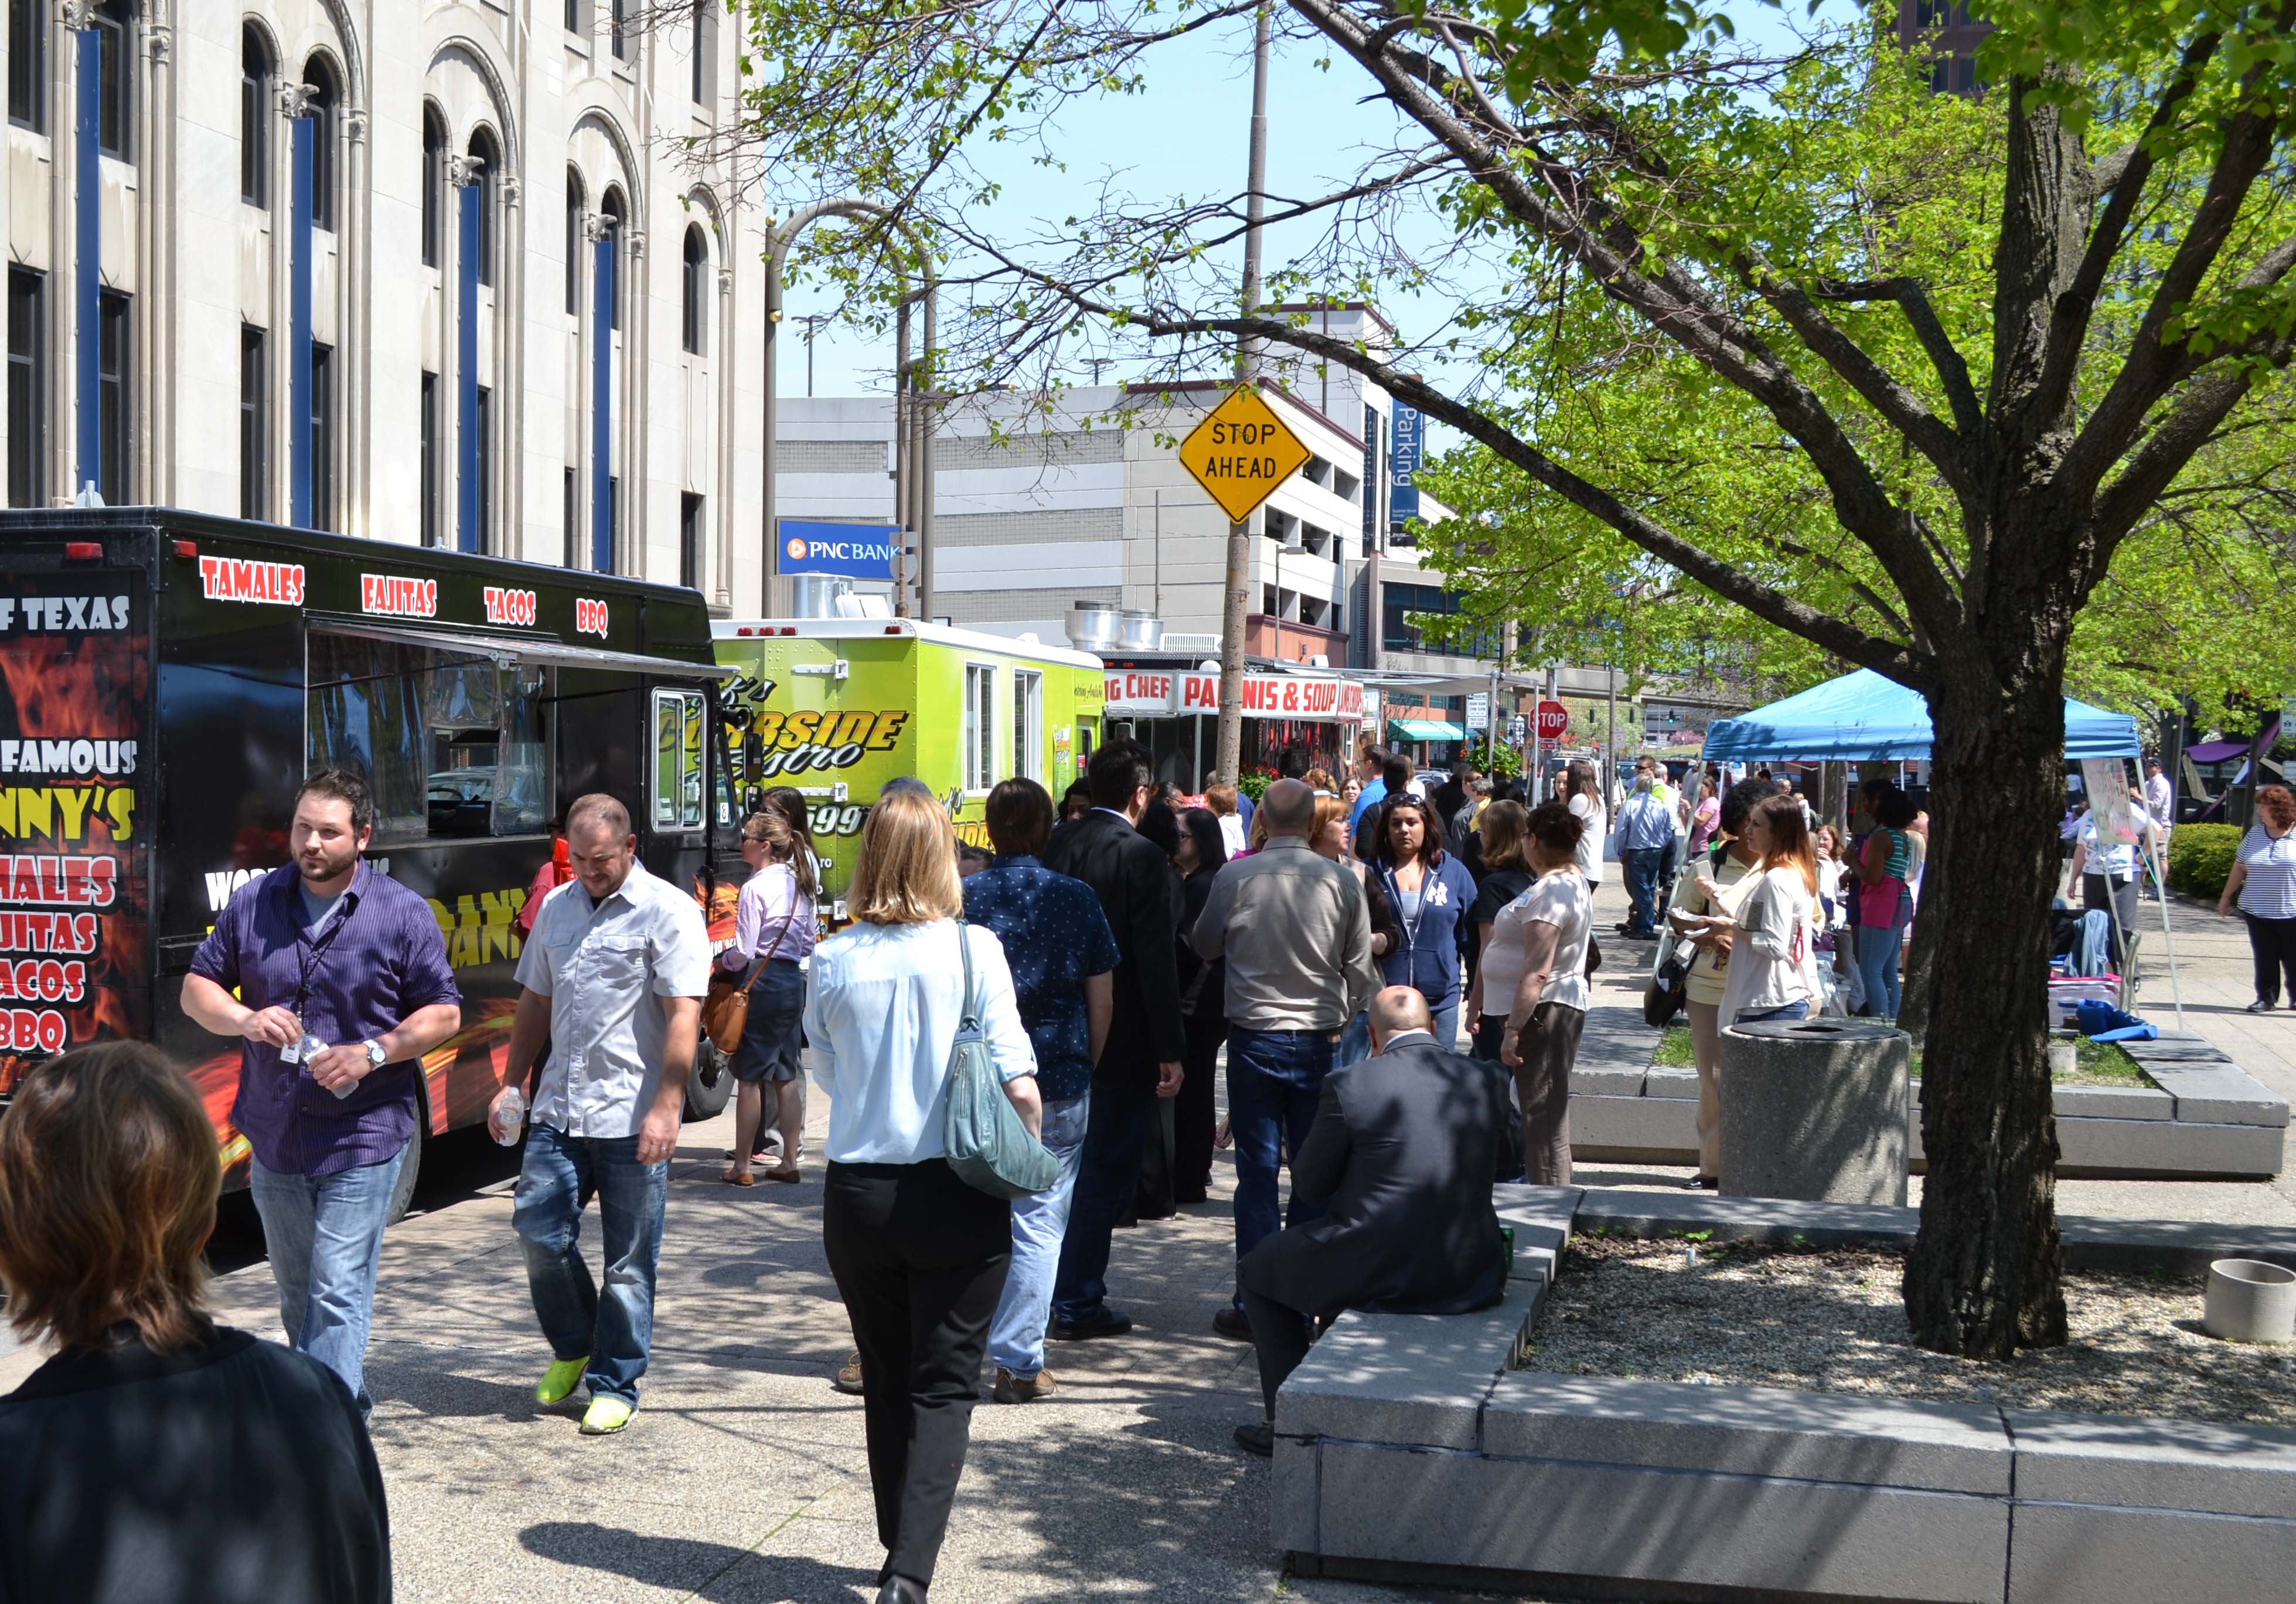
[[[2296,1597],[2296,1432],[1513,1367],[1570,1225],[1890,1241],[1910,1209],[1522,1186],[1499,1211],[1518,1271],[1502,1305],[1343,1314],[1283,1383],[1272,1524],[1300,1574],[1667,1599]],[[2092,1252],[2128,1232],[2073,1220],[2069,1252],[2073,1227]],[[2227,1232],[2147,1229],[2119,1248],[2213,1252],[2204,1236]]]

